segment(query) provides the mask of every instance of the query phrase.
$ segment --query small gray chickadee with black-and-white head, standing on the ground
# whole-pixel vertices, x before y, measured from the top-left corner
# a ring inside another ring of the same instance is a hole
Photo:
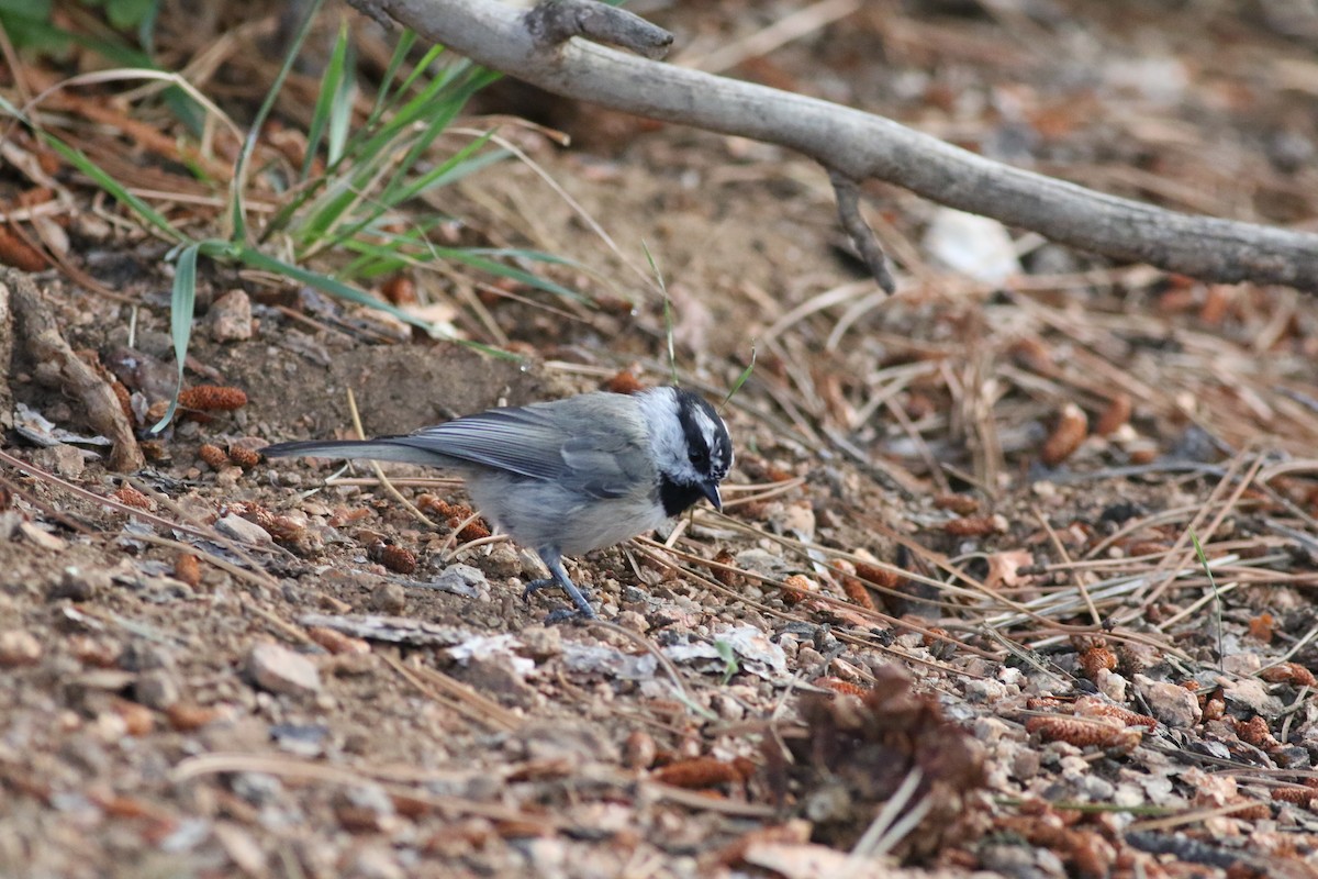
[[[461,473],[476,506],[550,569],[552,576],[529,584],[526,593],[556,582],[583,617],[594,611],[563,569],[563,555],[652,531],[700,498],[721,510],[718,482],[733,464],[724,419],[680,387],[581,394],[492,409],[403,436],[279,443],[261,451]]]

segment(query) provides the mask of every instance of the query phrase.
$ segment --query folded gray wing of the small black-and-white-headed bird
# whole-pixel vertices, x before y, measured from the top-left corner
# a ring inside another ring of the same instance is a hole
[[[592,497],[619,497],[647,476],[645,430],[630,411],[590,397],[493,409],[390,441]]]

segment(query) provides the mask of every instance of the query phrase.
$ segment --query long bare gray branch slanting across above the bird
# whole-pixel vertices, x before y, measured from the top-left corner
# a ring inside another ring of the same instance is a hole
[[[1189,216],[992,162],[880,116],[569,40],[546,49],[496,0],[351,0],[546,91],[788,146],[850,181],[875,178],[949,207],[1115,260],[1205,281],[1318,291],[1318,235]]]

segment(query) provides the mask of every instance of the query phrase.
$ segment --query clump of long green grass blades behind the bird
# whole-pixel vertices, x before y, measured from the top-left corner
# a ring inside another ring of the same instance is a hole
[[[505,159],[509,153],[492,141],[493,130],[467,136],[465,144],[445,152],[440,138],[452,134],[452,123],[472,95],[494,82],[498,74],[463,59],[451,59],[440,46],[411,62],[416,54],[416,36],[411,32],[399,37],[365,120],[355,121],[356,58],[349,29],[340,26],[307,125],[307,148],[301,167],[291,179],[287,175],[279,179],[274,170],[260,169],[262,183],[273,182],[282,190],[282,204],[258,228],[253,224],[246,202],[256,175],[253,162],[260,134],[319,9],[320,3],[315,3],[307,11],[278,76],[243,137],[221,229],[214,237],[196,237],[178,228],[83,152],[42,130],[34,115],[13,107],[0,108],[33,127],[46,144],[94,184],[174,244],[167,258],[175,265],[170,328],[178,357],[179,386],[191,337],[198,266],[203,257],[272,273],[377,308],[436,336],[448,333],[406,308],[370,295],[364,285],[401,270],[457,266],[506,278],[554,297],[584,300],[580,294],[523,268],[529,262],[565,264],[565,260],[534,250],[436,244],[436,228],[451,217],[436,215],[427,207],[413,210],[420,200],[432,199],[438,190]],[[159,79],[162,75],[171,76],[158,71],[127,70],[119,71],[116,78]],[[192,100],[223,117],[195,88],[182,83],[181,78],[174,79]],[[331,262],[333,268],[326,269]],[[488,345],[459,341],[510,356]],[[162,430],[175,410],[177,394],[167,414],[153,430]]]

